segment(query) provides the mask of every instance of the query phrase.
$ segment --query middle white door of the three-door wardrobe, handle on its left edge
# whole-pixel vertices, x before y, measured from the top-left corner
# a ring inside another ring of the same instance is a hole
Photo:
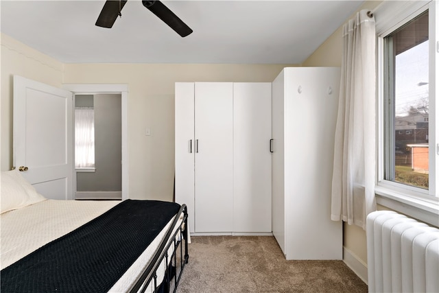
[[[195,232],[233,229],[233,83],[195,82]]]

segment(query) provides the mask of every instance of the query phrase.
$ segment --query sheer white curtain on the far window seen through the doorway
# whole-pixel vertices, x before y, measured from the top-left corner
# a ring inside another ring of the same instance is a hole
[[[95,167],[93,108],[75,108],[75,167]]]

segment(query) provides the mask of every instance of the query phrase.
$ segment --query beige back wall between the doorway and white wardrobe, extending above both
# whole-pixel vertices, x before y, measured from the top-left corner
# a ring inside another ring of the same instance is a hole
[[[67,64],[63,82],[128,84],[129,196],[171,200],[175,82],[271,82],[285,66]]]

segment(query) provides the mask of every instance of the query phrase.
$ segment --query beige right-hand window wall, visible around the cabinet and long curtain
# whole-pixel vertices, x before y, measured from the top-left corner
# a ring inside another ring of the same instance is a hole
[[[359,10],[373,10],[381,1],[366,1]],[[333,34],[313,52],[303,66],[335,66],[342,65],[342,27],[339,27]],[[343,223],[343,246],[353,253],[363,263],[367,263],[366,232],[363,228]]]

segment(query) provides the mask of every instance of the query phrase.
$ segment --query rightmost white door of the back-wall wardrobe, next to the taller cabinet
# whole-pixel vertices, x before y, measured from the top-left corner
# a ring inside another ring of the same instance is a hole
[[[233,84],[233,231],[272,231],[271,82]]]

